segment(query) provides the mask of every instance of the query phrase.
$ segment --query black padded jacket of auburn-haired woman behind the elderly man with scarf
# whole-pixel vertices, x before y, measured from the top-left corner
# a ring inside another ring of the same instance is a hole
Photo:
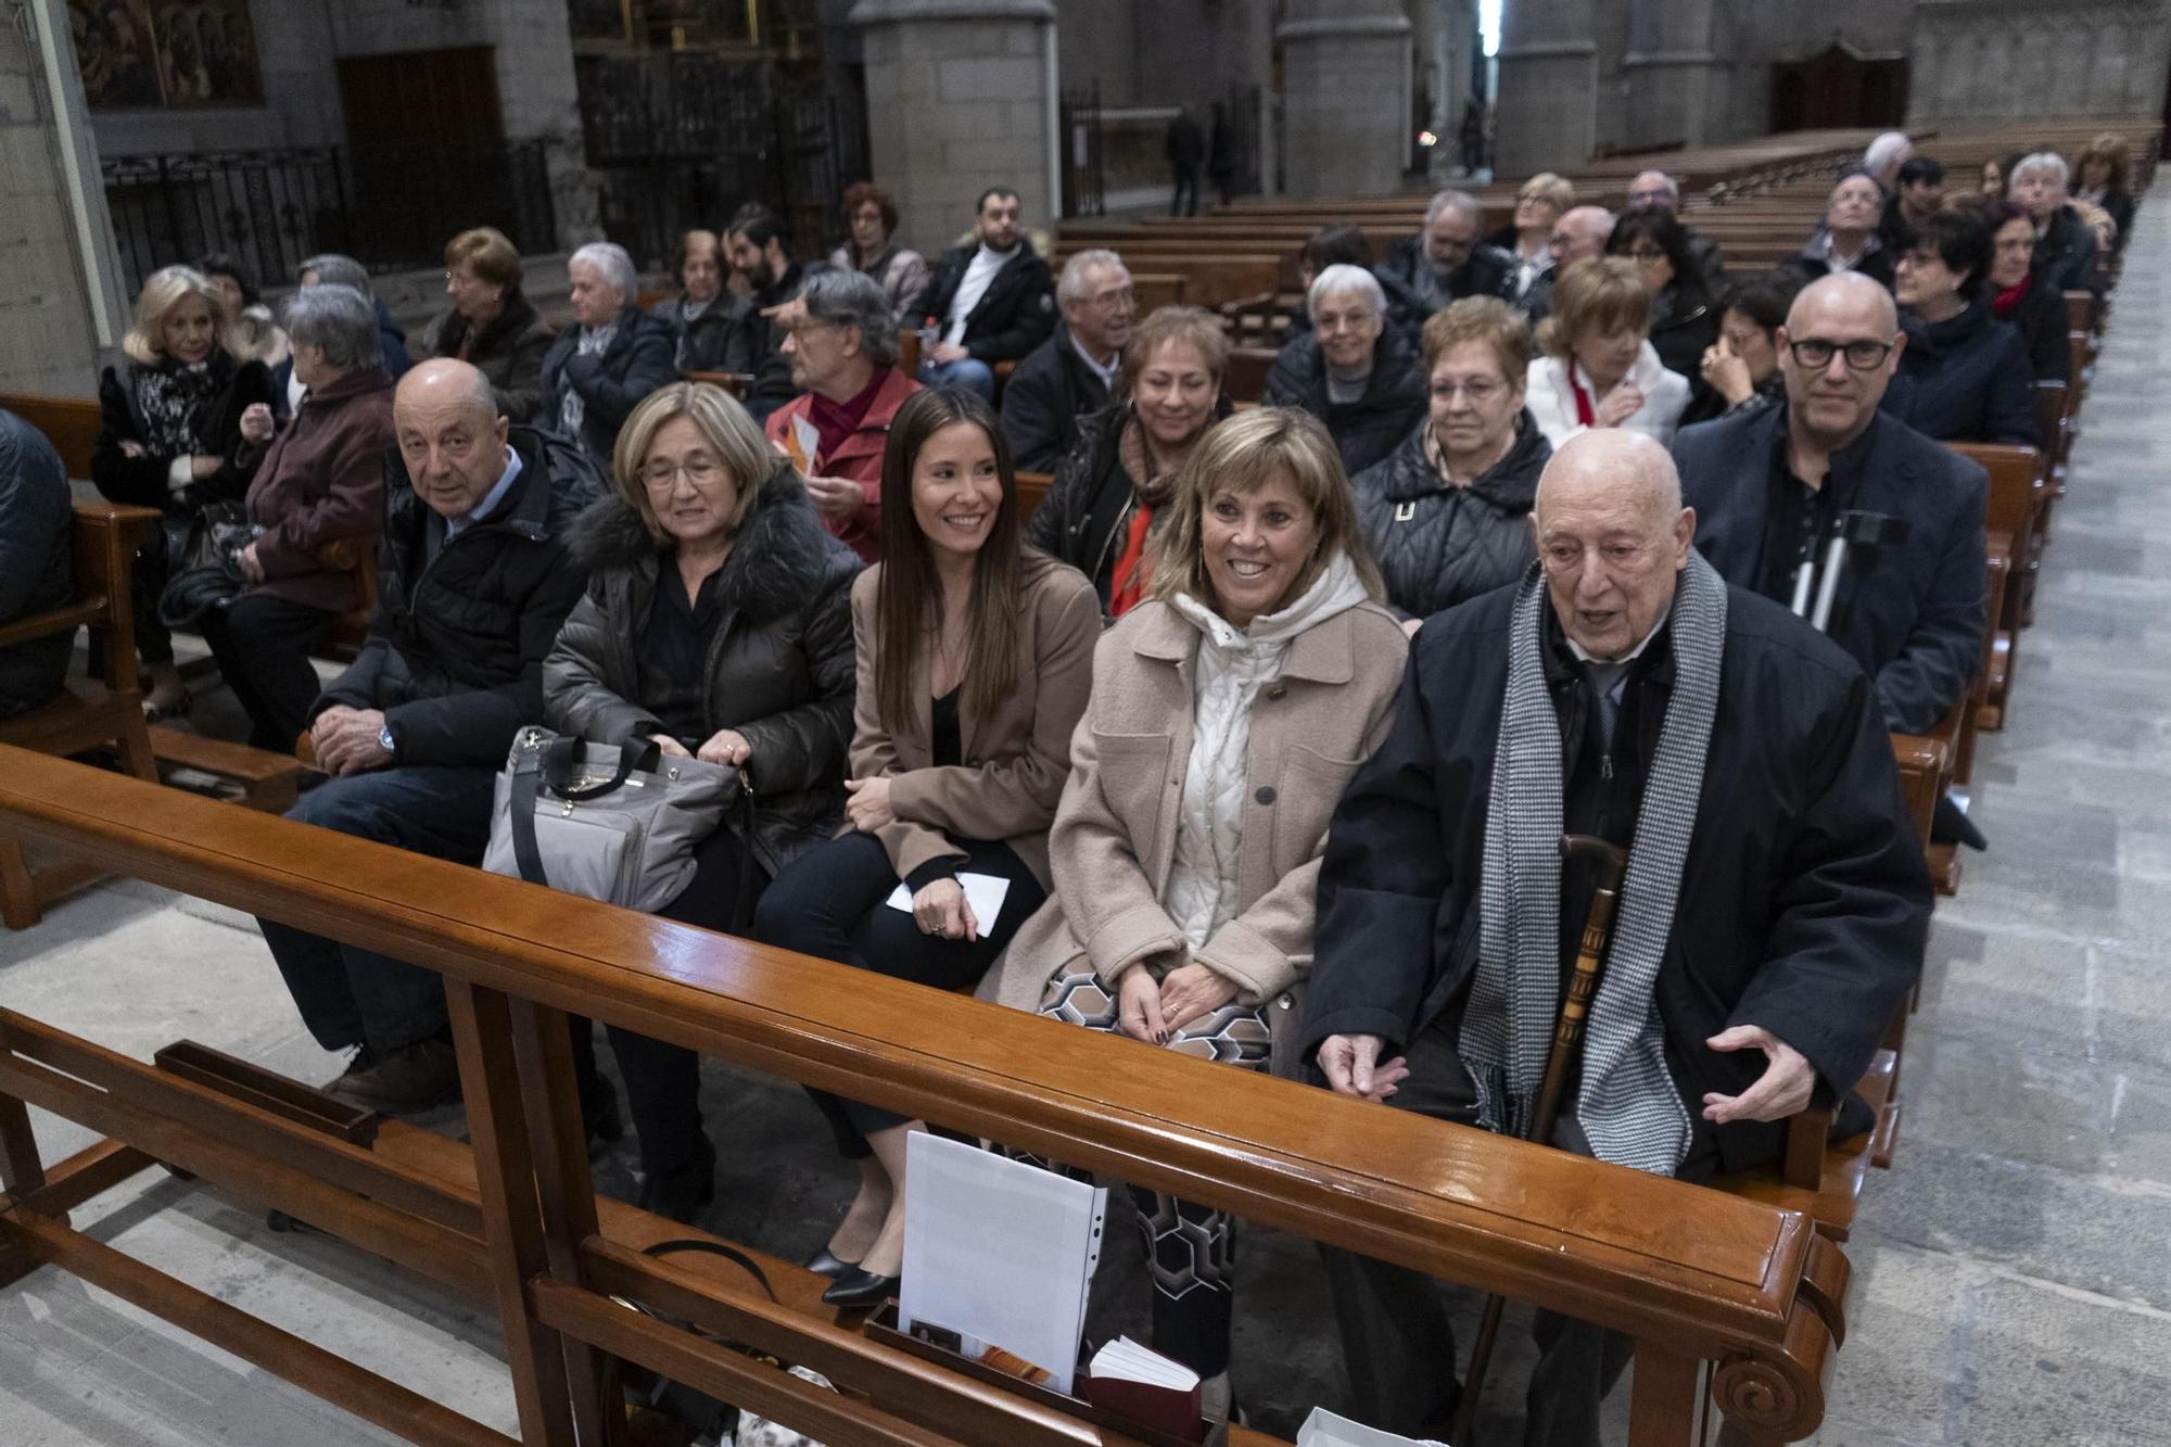
[[[1552,443],[1524,413],[1515,443],[1468,487],[1442,482],[1420,421],[1385,461],[1357,474],[1357,526],[1398,617],[1431,617],[1522,578],[1537,556],[1531,506]]]

